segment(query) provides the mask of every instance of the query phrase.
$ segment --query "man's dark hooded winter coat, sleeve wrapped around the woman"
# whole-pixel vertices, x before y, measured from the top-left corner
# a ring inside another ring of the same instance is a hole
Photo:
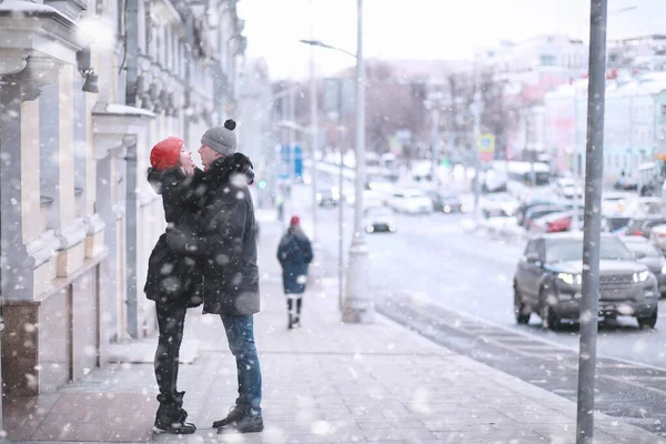
[[[253,180],[248,157],[218,159],[201,179],[201,210],[191,218],[191,230],[168,230],[172,249],[201,259],[204,313],[249,315],[260,310],[256,222],[248,189]]]

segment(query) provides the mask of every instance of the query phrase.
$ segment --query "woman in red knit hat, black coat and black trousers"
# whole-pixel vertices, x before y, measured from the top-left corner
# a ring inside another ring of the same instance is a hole
[[[192,154],[179,138],[168,138],[153,147],[148,180],[162,195],[167,222],[180,228],[183,218],[194,212],[193,190],[203,172],[194,168]],[[173,252],[162,234],[148,264],[144,292],[155,302],[159,340],[154,359],[155,379],[160,387],[160,406],[155,414],[155,432],[190,434],[194,424],[185,422],[185,392],[179,392],[178,369],[185,311],[201,305],[201,266],[191,255]]]

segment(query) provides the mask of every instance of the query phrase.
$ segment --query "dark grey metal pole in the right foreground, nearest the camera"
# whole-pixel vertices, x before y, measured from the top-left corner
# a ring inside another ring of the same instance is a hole
[[[585,158],[585,219],[583,224],[583,299],[578,355],[576,444],[594,436],[594,375],[597,354],[602,180],[604,174],[604,101],[606,97],[607,0],[591,0],[589,87]]]

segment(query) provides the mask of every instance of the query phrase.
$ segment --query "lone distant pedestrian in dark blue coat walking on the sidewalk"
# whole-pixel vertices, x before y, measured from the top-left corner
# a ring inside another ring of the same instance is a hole
[[[312,259],[312,243],[301,229],[299,216],[294,215],[278,246],[278,261],[282,265],[282,283],[286,295],[289,330],[301,326],[303,293],[307,284],[307,268]]]

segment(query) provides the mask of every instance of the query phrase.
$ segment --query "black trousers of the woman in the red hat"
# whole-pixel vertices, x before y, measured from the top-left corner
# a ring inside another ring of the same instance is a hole
[[[178,361],[180,346],[183,341],[183,327],[185,326],[184,306],[172,304],[155,304],[158,311],[158,327],[160,339],[155,352],[155,379],[160,387],[160,394],[167,397],[175,395],[178,389]]]

